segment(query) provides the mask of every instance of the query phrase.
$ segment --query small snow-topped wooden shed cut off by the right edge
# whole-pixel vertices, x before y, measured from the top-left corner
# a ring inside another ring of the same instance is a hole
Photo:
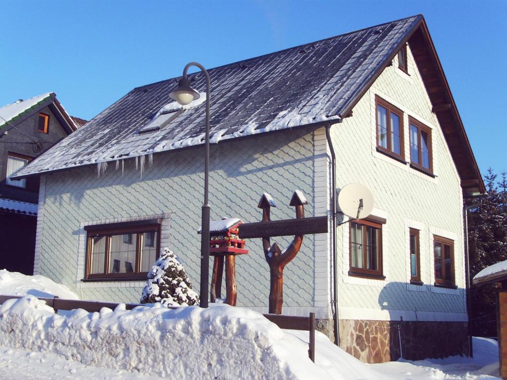
[[[501,378],[507,380],[507,260],[484,268],[474,277],[473,283],[474,285],[495,284],[498,290],[496,299],[498,357]]]

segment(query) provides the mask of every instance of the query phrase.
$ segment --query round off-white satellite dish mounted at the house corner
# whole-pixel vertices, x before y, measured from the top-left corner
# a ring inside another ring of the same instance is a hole
[[[372,213],[373,194],[360,183],[349,183],[338,193],[338,207],[352,219],[363,219]]]

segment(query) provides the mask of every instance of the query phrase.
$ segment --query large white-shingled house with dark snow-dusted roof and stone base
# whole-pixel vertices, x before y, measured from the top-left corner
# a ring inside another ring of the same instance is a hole
[[[400,343],[404,358],[465,353],[463,198],[485,188],[423,17],[209,75],[212,219],[260,220],[263,192],[273,220],[294,218],[294,189],[307,216],[329,216],[330,233],[305,236],[285,268],[283,313],[314,311],[330,335],[336,317],[340,346],[367,362],[398,358]],[[202,73],[190,79],[205,91]],[[83,298],[136,301],[169,246],[198,288],[205,107],[164,107],[176,86],[133,89],[19,172],[41,178],[34,273]],[[335,188],[350,182],[375,208],[344,225],[338,214],[334,230]],[[267,312],[261,239],[246,248],[238,306]]]

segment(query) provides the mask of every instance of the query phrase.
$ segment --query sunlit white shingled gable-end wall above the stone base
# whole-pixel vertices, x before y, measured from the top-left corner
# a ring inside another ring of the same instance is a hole
[[[466,320],[460,180],[409,48],[407,55],[410,75],[395,58],[354,107],[353,116],[332,127],[337,187],[367,185],[375,197],[373,214],[387,219],[382,229],[384,281],[348,275],[349,227],[338,227],[340,319]],[[375,95],[404,112],[406,161],[409,115],[431,128],[435,178],[376,151]],[[410,227],[420,230],[423,286],[409,284]],[[433,234],[454,240],[458,289],[433,286]]]

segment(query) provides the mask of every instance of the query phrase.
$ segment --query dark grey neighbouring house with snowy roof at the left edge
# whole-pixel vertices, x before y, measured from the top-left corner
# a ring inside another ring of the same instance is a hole
[[[54,93],[0,107],[0,269],[33,273],[39,178],[12,176],[77,128]]]

